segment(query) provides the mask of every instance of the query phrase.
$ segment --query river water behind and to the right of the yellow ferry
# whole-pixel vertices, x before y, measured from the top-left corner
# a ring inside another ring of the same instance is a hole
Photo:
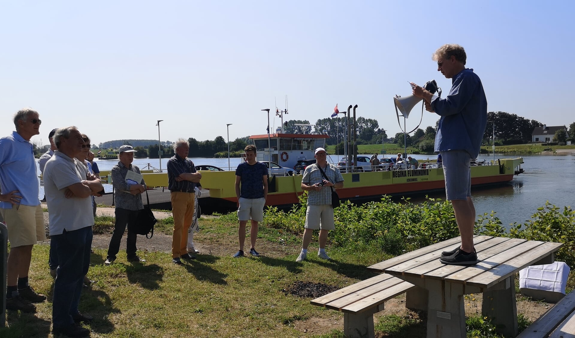
[[[492,160],[493,155],[480,155],[478,160]],[[519,155],[518,155],[519,156]],[[331,156],[331,162],[337,163],[342,156]],[[430,157],[412,155],[417,160]],[[496,154],[496,158],[515,157],[509,154]],[[525,170],[517,175],[507,185],[474,189],[471,192],[477,214],[495,211],[504,226],[513,222],[523,223],[535,213],[536,209],[545,205],[546,201],[563,208],[568,205],[575,207],[575,155],[524,155]],[[434,158],[434,157],[433,157]],[[214,165],[224,170],[228,169],[227,158],[190,158],[194,164]],[[166,170],[167,158],[162,159],[162,169]],[[231,169],[240,164],[240,158],[229,160]],[[117,160],[96,160],[100,170],[110,170]],[[140,169],[147,169],[148,164],[160,168],[158,158],[135,158],[133,164]],[[40,170],[38,170],[40,172]],[[40,195],[43,196],[41,188]],[[106,192],[111,192],[111,185],[106,185]],[[444,199],[444,193],[430,195]],[[40,197],[41,198],[41,197]],[[413,203],[423,201],[423,197],[412,198]]]

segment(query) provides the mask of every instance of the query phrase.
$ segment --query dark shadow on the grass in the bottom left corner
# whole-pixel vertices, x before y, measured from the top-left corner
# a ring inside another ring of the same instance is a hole
[[[0,337],[50,337],[51,321],[33,313],[7,310],[7,327],[0,328]],[[0,318],[4,320],[4,318]]]

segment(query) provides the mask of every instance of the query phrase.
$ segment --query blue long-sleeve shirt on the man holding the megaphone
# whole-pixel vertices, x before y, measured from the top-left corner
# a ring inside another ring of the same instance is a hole
[[[435,135],[435,151],[465,150],[477,158],[487,125],[487,99],[473,69],[463,69],[451,80],[451,90],[434,98],[431,108],[441,116]]]

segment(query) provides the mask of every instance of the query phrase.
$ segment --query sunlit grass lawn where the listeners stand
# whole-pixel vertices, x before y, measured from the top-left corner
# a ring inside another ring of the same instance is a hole
[[[236,247],[235,224],[202,219],[201,226],[194,237],[198,243]],[[333,261],[326,262],[316,257],[315,244],[308,261],[296,263],[300,238],[263,227],[258,237],[260,258],[232,258],[230,249],[222,255],[199,254],[183,266],[171,263],[171,255],[164,252],[139,252],[147,260],[144,264],[128,263],[120,252],[116,263],[104,266],[106,251],[95,250],[89,277],[96,282],[83,290],[80,305],[82,312],[94,316],[92,337],[313,336],[298,331],[294,321],[338,320],[341,313],[310,305],[311,298],[284,290],[296,281],[347,286],[371,277],[365,267],[383,258],[381,252],[358,255],[328,248]],[[272,247],[269,251],[285,253],[266,255],[264,248]],[[30,269],[30,282],[37,292],[47,294],[48,301],[37,304],[36,315],[9,312],[8,327],[0,329],[0,337],[50,336],[53,280],[48,249],[34,246]],[[329,337],[339,336],[342,327],[334,328],[339,333]]]

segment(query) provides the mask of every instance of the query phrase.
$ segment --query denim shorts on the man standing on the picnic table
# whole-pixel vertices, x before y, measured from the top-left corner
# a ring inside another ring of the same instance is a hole
[[[465,150],[440,151],[447,200],[471,197],[471,156]]]

